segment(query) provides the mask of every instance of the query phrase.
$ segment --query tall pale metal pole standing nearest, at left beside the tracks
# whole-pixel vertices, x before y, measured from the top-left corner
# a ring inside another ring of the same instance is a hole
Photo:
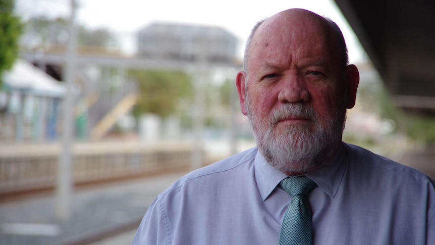
[[[73,192],[73,168],[71,161],[71,141],[73,132],[73,93],[72,83],[74,82],[76,72],[76,2],[71,0],[71,16],[69,22],[69,40],[67,51],[67,63],[65,71],[65,84],[67,87],[64,97],[63,107],[63,135],[62,135],[62,148],[58,165],[58,178],[56,186],[57,206],[56,215],[60,220],[68,220],[71,216],[71,197]]]

